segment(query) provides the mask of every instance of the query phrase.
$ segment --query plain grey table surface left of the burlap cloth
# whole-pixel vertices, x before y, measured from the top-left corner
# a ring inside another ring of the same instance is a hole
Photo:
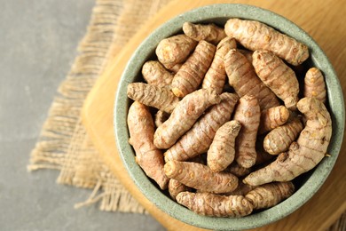
[[[56,89],[76,56],[94,0],[0,0],[0,230],[164,230],[149,215],[74,209],[90,190],[28,173]]]

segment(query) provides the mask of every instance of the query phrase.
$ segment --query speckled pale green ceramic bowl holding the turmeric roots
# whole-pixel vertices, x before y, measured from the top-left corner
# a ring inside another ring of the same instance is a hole
[[[132,82],[142,81],[140,79],[142,65],[146,60],[151,60],[155,57],[154,50],[161,39],[181,33],[181,28],[185,21],[201,23],[214,22],[218,25],[224,25],[229,18],[262,21],[288,36],[295,37],[295,39],[307,44],[310,48],[311,58],[307,60],[306,64],[307,66],[321,69],[326,76],[327,106],[333,119],[333,136],[328,147],[328,153],[331,157],[324,158],[314,170],[304,173],[298,179],[295,179],[297,190],[287,200],[270,209],[256,212],[240,219],[200,216],[175,203],[168,195],[162,193],[153,181],[145,176],[144,171],[135,162],[134,151],[128,143],[129,131],[126,122],[131,103],[131,100],[126,95],[127,85]],[[322,52],[318,44],[293,22],[273,12],[245,4],[213,4],[204,6],[178,15],[176,18],[169,20],[160,28],[156,29],[153,34],[145,38],[129,60],[127,67],[122,73],[114,107],[114,129],[117,147],[120,151],[122,161],[130,173],[130,177],[134,180],[139,190],[149,201],[155,204],[161,211],[168,213],[171,217],[195,227],[216,230],[239,230],[261,227],[286,217],[302,206],[303,203],[306,203],[316,193],[318,188],[321,187],[334,166],[342,145],[344,121],[344,104],[338,78],[325,53]]]

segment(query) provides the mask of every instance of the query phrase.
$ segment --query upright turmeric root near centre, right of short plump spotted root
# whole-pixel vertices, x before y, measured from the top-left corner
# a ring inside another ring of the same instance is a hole
[[[235,139],[235,160],[244,168],[250,168],[256,163],[256,138],[260,116],[256,97],[245,95],[240,98],[233,116],[234,120],[241,123],[239,135]]]

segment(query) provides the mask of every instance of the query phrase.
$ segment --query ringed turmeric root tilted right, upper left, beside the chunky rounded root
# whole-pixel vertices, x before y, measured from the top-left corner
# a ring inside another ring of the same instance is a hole
[[[201,41],[173,78],[172,92],[177,97],[197,90],[214,58],[216,47]]]

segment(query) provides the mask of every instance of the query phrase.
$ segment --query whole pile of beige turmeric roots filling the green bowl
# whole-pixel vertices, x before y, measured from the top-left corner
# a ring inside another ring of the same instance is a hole
[[[308,47],[253,20],[183,31],[145,61],[146,84],[128,85],[137,163],[202,215],[242,217],[293,195],[291,180],[322,160],[332,134],[321,71],[297,75]]]

